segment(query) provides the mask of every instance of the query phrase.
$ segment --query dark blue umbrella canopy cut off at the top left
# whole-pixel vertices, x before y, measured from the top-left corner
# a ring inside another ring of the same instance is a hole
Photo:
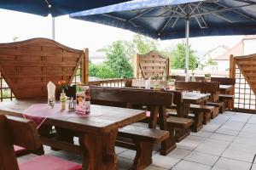
[[[130,0],[1,0],[0,8],[53,17]]]

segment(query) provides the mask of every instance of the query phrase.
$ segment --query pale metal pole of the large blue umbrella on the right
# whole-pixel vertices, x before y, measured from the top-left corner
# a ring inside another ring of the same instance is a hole
[[[186,78],[185,81],[189,82],[189,17],[185,19],[185,25],[186,25],[186,65],[185,65],[185,74]]]

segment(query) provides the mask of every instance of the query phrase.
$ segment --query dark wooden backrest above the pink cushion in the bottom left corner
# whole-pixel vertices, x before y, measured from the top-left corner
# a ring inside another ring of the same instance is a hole
[[[42,146],[34,122],[14,116],[0,115],[0,169],[19,169],[14,144],[28,150]]]

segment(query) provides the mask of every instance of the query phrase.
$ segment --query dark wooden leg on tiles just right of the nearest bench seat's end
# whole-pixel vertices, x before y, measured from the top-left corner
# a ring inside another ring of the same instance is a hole
[[[161,142],[160,155],[166,156],[176,148],[176,139],[174,137],[174,127],[168,127],[169,137]]]

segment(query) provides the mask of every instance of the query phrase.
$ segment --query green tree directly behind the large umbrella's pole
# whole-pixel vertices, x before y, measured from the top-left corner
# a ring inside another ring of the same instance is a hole
[[[172,50],[171,56],[172,68],[184,69],[186,65],[186,45],[183,42],[177,43],[177,46]],[[195,51],[189,45],[189,69],[195,69],[197,66],[198,58],[195,56]]]

